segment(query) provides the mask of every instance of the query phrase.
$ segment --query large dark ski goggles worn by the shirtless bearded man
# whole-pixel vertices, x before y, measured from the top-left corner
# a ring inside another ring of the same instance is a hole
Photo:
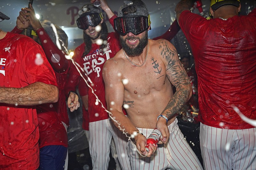
[[[126,35],[129,32],[138,35],[147,30],[150,24],[149,15],[148,17],[142,15],[117,17],[114,19],[114,30],[121,35]]]

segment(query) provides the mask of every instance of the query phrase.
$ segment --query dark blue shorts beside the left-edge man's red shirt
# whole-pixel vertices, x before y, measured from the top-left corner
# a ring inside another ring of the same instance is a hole
[[[62,170],[68,148],[62,145],[49,145],[40,149],[39,170]]]

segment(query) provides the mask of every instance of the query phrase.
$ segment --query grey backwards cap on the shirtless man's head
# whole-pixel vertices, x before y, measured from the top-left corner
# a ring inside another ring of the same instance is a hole
[[[138,15],[148,17],[148,8],[141,0],[125,1],[118,11],[118,17]]]

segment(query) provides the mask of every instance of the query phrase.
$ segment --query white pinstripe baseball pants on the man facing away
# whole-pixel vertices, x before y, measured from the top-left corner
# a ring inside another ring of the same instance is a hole
[[[220,129],[200,125],[204,169],[255,170],[256,128]]]

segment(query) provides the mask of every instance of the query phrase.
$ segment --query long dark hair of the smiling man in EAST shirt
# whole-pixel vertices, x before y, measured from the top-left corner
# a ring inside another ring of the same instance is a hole
[[[101,24],[100,38],[103,41],[108,40],[108,27],[107,27],[107,24],[104,21]],[[91,51],[91,48],[92,48],[91,38],[86,33],[84,33],[84,43],[85,43],[85,47],[84,47],[83,57],[85,55],[87,55]],[[107,45],[103,43],[100,46],[100,51],[103,51],[103,49],[106,48],[106,47],[107,47]]]

